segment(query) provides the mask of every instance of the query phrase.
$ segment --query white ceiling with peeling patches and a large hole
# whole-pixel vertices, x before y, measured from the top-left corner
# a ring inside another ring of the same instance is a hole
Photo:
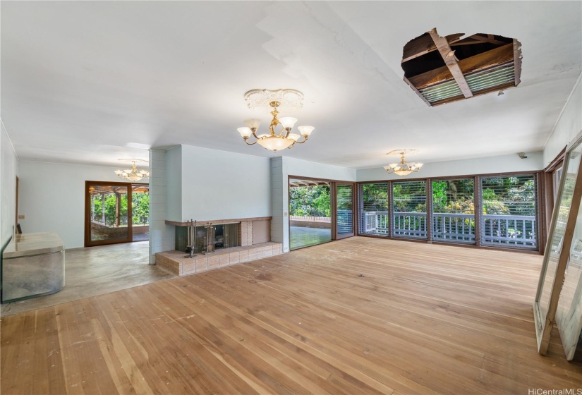
[[[275,155],[370,168],[540,151],[582,70],[582,1],[1,1],[0,116],[23,160],[116,164],[150,147],[274,156],[243,94],[293,88],[309,142]],[[428,107],[402,47],[519,39],[521,84]],[[281,114],[287,115],[287,114]],[[261,114],[262,130],[269,119]]]

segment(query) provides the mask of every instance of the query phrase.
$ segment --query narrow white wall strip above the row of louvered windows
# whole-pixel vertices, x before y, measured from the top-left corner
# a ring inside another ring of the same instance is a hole
[[[382,167],[358,170],[358,181],[404,180],[411,178],[430,178],[446,176],[466,176],[473,174],[504,173],[514,171],[532,171],[544,168],[542,152],[527,152],[527,158],[521,159],[517,154],[499,157],[463,159],[447,162],[425,163],[418,173],[406,177],[387,174]]]

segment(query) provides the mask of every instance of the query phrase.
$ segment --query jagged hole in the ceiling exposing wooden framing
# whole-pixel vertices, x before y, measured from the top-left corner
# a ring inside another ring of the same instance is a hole
[[[521,75],[517,39],[464,33],[441,37],[434,28],[403,50],[404,81],[430,107],[515,87]]]

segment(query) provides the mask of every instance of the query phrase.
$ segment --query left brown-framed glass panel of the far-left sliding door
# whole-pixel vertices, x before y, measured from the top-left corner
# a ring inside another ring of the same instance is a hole
[[[85,183],[85,246],[132,241],[131,184]]]

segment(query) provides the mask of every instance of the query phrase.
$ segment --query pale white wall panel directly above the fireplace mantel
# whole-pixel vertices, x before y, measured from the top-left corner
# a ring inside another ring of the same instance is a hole
[[[181,221],[271,215],[269,158],[182,145]]]

